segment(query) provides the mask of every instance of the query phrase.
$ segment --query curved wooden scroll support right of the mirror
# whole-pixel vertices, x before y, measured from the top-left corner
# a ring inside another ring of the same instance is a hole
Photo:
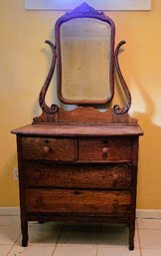
[[[121,70],[120,70],[120,67],[119,67],[119,63],[118,63],[118,54],[119,54],[119,49],[121,48],[122,45],[124,45],[126,42],[125,41],[121,41],[116,49],[115,49],[115,53],[114,53],[114,64],[115,64],[115,69],[116,69],[116,72],[117,72],[117,75],[118,75],[118,78],[119,78],[119,81],[121,83],[121,86],[122,86],[122,89],[123,89],[123,92],[125,94],[125,97],[126,97],[126,103],[125,103],[125,107],[124,108],[120,108],[118,105],[114,105],[113,107],[113,112],[117,115],[119,114],[124,114],[126,112],[129,111],[130,107],[131,107],[131,95],[130,95],[130,92],[128,90],[128,87],[124,81],[124,78],[122,76],[122,73],[121,73]]]

